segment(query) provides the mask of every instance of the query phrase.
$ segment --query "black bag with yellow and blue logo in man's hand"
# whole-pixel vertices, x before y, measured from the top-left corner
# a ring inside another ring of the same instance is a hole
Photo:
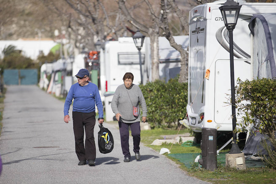
[[[114,140],[111,132],[99,124],[100,131],[98,132],[99,151],[103,154],[110,153],[114,147]]]

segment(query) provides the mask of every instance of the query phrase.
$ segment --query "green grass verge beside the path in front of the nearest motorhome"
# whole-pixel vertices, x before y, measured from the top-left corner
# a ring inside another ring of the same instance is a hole
[[[160,146],[150,145],[155,139],[162,139],[161,135],[174,135],[178,130],[163,130],[163,129],[153,129],[153,130],[142,130],[141,131],[141,143],[147,147],[154,149],[159,152],[161,148],[170,149],[171,144],[162,144]],[[179,134],[184,132],[189,132],[187,129],[181,129]],[[228,152],[229,150],[222,150],[223,152]],[[200,153],[200,146],[190,146],[184,147],[181,143],[176,143],[171,147],[171,154],[175,153]],[[205,169],[199,168],[198,163],[191,163],[192,167],[187,168],[184,163],[179,162],[169,156],[167,153],[164,155],[167,158],[173,160],[179,165],[183,171],[186,171],[188,175],[196,177],[200,180],[210,182],[213,184],[273,184],[276,183],[276,170],[268,167],[260,168],[247,168],[246,170],[237,170],[236,168],[230,168],[218,163],[216,171],[207,171]]]

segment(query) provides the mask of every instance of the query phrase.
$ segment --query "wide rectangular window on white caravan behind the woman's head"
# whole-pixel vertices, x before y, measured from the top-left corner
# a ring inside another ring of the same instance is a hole
[[[142,64],[145,63],[145,53],[141,53]],[[118,52],[118,64],[139,64],[138,52]]]

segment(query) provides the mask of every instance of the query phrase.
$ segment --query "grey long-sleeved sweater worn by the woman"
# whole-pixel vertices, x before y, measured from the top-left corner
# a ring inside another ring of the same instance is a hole
[[[119,121],[124,123],[134,123],[140,121],[139,103],[143,111],[142,116],[147,117],[147,105],[140,87],[135,84],[132,84],[132,87],[130,89],[127,89],[125,87],[125,84],[122,84],[118,86],[115,91],[115,94],[111,102],[111,108],[115,115],[117,113],[120,113],[122,115]],[[138,107],[138,117],[135,117],[133,115],[132,104],[133,106]]]

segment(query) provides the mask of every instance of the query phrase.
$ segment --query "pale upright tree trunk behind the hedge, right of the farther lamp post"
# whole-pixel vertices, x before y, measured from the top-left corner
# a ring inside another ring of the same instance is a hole
[[[151,40],[151,81],[159,79],[159,40],[158,34],[150,34]]]

